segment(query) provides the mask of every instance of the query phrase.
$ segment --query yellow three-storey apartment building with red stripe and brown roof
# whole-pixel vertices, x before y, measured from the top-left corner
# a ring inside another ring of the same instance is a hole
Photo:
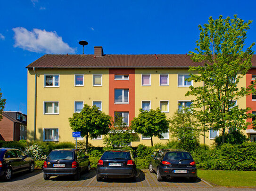
[[[190,66],[198,63],[185,54],[104,54],[101,46],[94,47],[93,55],[46,54],[26,67],[28,139],[74,140],[68,118],[80,112],[85,103],[113,118],[122,115],[127,125],[138,116],[139,108],[159,107],[169,118],[179,105],[190,106],[193,98],[185,96],[190,85],[203,85],[186,81]],[[246,86],[246,79],[239,85]],[[239,107],[246,107],[246,99],[238,100]],[[217,131],[206,132],[200,141],[211,144],[216,135]],[[163,137],[153,138],[153,142],[171,139],[169,133]],[[103,145],[103,137],[89,142]],[[137,135],[132,146],[139,144],[150,145],[150,139]]]

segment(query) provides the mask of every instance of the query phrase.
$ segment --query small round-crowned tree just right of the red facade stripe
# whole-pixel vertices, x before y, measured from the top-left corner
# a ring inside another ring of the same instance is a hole
[[[161,133],[167,133],[169,129],[169,120],[166,119],[165,113],[161,113],[159,107],[149,111],[140,108],[140,114],[134,117],[131,123],[131,128],[136,133],[150,137],[151,146],[153,146],[153,136],[163,138]]]

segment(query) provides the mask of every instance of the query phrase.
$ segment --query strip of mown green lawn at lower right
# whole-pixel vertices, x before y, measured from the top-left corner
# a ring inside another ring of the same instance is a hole
[[[214,186],[256,187],[256,171],[198,170],[198,177]]]

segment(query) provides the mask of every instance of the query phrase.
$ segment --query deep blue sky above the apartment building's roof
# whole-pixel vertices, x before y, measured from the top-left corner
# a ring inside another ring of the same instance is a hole
[[[5,110],[26,114],[27,69],[46,53],[184,54],[193,51],[198,25],[233,16],[250,25],[256,42],[256,0],[1,0],[0,92]],[[246,46],[246,47],[247,47]],[[256,48],[254,47],[254,51]]]

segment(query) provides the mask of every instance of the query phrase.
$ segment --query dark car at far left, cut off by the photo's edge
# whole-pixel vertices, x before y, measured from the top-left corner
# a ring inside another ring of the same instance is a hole
[[[18,149],[0,148],[0,176],[5,181],[13,174],[34,171],[34,160]]]

